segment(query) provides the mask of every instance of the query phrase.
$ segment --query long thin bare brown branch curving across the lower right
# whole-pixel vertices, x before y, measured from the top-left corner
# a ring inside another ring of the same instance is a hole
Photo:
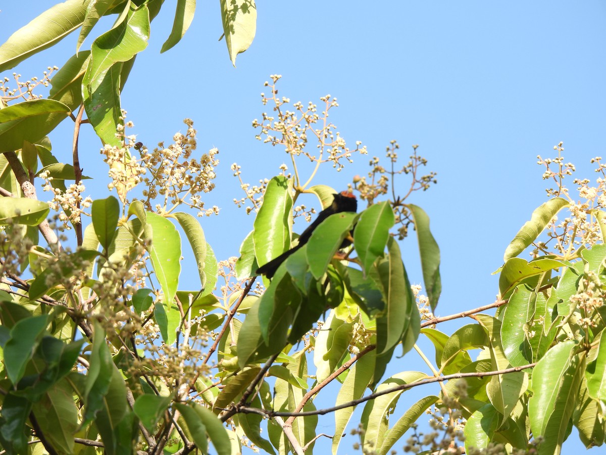
[[[266,417],[305,417],[305,416],[317,416],[317,415],[324,415],[324,414],[328,414],[328,413],[333,413],[335,411],[338,411],[339,409],[344,409],[344,408],[349,408],[350,406],[356,406],[359,405],[360,403],[364,403],[367,402],[368,400],[374,400],[375,398],[378,398],[380,396],[386,395],[388,393],[392,393],[392,392],[397,392],[400,390],[407,390],[407,389],[411,389],[413,387],[419,386],[419,385],[424,385],[424,384],[431,384],[434,382],[442,382],[442,381],[448,381],[451,379],[461,379],[463,377],[484,377],[484,376],[498,376],[499,374],[507,374],[507,373],[513,373],[516,371],[522,371],[523,369],[527,369],[527,368],[533,368],[533,366],[536,365],[536,362],[534,363],[528,363],[528,365],[522,365],[522,366],[513,366],[511,368],[505,368],[505,369],[500,369],[497,371],[485,371],[485,372],[471,372],[471,373],[454,373],[454,374],[448,374],[447,376],[438,376],[438,377],[429,377],[427,379],[423,379],[420,380],[418,382],[412,382],[409,384],[401,384],[395,387],[391,387],[385,390],[382,390],[381,392],[375,392],[375,393],[371,393],[370,395],[367,395],[365,397],[362,397],[358,400],[351,400],[350,402],[347,403],[342,403],[341,405],[338,406],[333,406],[332,408],[324,408],[324,409],[316,409],[315,411],[304,411],[304,412],[299,412],[299,413],[288,413],[285,411],[268,411],[267,409],[260,409],[260,408],[250,408],[248,406],[240,406],[238,408],[238,412],[240,413],[251,413],[251,414],[259,414],[261,416],[266,416]]]

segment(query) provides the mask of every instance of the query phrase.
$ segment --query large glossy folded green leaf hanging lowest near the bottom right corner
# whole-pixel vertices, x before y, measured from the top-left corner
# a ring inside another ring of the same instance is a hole
[[[567,436],[585,369],[584,356],[575,350],[573,340],[558,343],[533,369],[528,416],[533,436],[544,438],[539,454],[559,453]]]

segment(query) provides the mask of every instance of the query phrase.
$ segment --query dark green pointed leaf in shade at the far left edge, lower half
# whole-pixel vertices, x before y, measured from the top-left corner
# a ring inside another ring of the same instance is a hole
[[[47,325],[48,315],[32,316],[19,320],[10,330],[10,339],[4,345],[4,366],[13,385],[23,377]]]

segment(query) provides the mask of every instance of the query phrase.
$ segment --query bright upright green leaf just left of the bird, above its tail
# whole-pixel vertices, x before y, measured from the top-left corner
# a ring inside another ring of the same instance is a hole
[[[290,224],[293,198],[291,181],[286,177],[273,177],[267,184],[263,204],[255,218],[255,256],[264,265],[290,248]]]

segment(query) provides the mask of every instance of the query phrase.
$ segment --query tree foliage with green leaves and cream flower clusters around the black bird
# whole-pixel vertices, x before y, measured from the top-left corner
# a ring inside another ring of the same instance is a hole
[[[435,174],[422,175],[427,161],[417,146],[400,167],[395,141],[387,167],[375,157],[368,175],[353,177],[350,186],[367,207],[328,217],[261,284],[258,266],[289,249],[295,227],[313,216],[304,198],[314,195],[322,207],[332,202],[336,190],[315,181],[319,166],[342,170],[367,150],[347,147],[327,120],[338,106],[334,98],[321,98],[321,113],[314,103],[289,106],[277,96],[280,76],[271,76],[262,101],[274,114],[253,126],[259,140],[288,152],[291,174],[282,167],[250,186],[233,164],[245,192],[236,202],[255,222],[237,260],[218,261],[213,239],[187,211],[217,211],[202,199],[215,187],[218,151],[195,153],[189,119],[172,144],[148,150],[128,135],[132,123],[121,109],[128,73],[161,6],[68,0],[0,46],[4,71],[80,30],[75,55],[61,70],[26,83],[17,76],[14,90],[6,80],[2,85],[3,453],[209,453],[209,442],[219,454],[239,453],[243,445],[311,453],[325,436],[318,431],[323,414],[335,419],[333,453],[351,426],[365,453],[378,454],[397,448],[407,432],[404,450],[416,453],[558,454],[573,425],[587,447],[604,443],[606,166],[599,158],[593,161],[601,180],[575,180],[576,200],[563,183],[574,167],[564,163],[562,144],[558,157],[539,157],[544,178],[556,186],[506,246],[499,298],[480,308],[433,315],[441,294],[439,248],[428,215],[408,198],[435,183]],[[177,2],[162,52],[182,38],[195,6]],[[235,64],[255,35],[255,4],[222,0],[221,10]],[[112,29],[90,50],[80,49],[106,15],[117,15]],[[39,84],[52,87],[47,98],[33,93]],[[73,161],[60,163],[48,134],[68,117],[75,124]],[[95,200],[84,197],[88,177],[78,154],[86,123],[112,179],[111,194]],[[396,195],[393,183],[402,178],[409,190]],[[36,194],[40,183],[50,203]],[[410,285],[402,261],[399,241],[410,226],[427,296]],[[345,237],[353,244],[339,251]],[[185,251],[198,271],[193,290],[181,280]],[[519,257],[528,251],[530,261]],[[484,314],[493,308],[495,315]],[[467,316],[474,323],[451,335],[436,329]],[[435,352],[419,348],[420,336]],[[413,349],[428,372],[385,377],[393,356]],[[324,406],[332,399],[322,389],[336,383],[334,404]],[[398,405],[408,389],[430,383],[431,394],[408,409]],[[360,421],[351,422],[358,405]],[[423,435],[416,422],[426,412],[433,430]]]

